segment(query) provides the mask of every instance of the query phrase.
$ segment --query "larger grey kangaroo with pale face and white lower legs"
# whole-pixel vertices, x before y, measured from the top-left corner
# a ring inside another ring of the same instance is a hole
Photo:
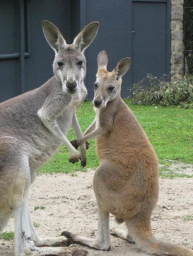
[[[29,188],[36,170],[52,157],[63,143],[70,151],[69,162],[81,159],[86,165],[86,145],[78,152],[67,140],[70,128],[82,137],[76,108],[87,95],[84,86],[84,50],[98,31],[98,22],[84,27],[72,44],[67,44],[52,23],[43,21],[47,42],[55,51],[54,76],[41,87],[0,104],[0,231],[15,216],[15,255],[86,255],[68,246],[64,236],[39,238],[29,211]],[[61,247],[50,247],[61,244]]]

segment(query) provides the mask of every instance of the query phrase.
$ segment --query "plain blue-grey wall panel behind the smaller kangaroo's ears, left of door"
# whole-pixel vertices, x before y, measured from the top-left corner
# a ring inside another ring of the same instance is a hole
[[[131,57],[131,3],[128,0],[81,0],[81,24],[99,21],[100,28],[95,40],[86,49],[88,98],[93,99],[93,83],[96,79],[97,55],[106,51],[109,57],[108,71],[112,71],[120,59]],[[130,69],[131,70],[131,69]],[[131,71],[123,77],[121,95],[129,95]]]

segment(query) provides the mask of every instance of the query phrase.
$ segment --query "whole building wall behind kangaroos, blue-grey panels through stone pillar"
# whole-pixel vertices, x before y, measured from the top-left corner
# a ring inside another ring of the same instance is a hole
[[[56,4],[52,7],[53,1]],[[182,76],[183,1],[121,0],[121,5],[118,0],[109,1],[0,1],[0,102],[33,90],[53,76],[54,52],[44,38],[42,20],[55,24],[67,43],[72,43],[78,32],[90,22],[100,22],[98,34],[85,52],[88,99],[93,98],[96,58],[102,50],[106,50],[109,56],[109,71],[120,59],[132,59],[123,79],[123,98],[129,96],[132,85],[144,79],[147,73],[161,77],[169,75],[172,68],[172,77]]]

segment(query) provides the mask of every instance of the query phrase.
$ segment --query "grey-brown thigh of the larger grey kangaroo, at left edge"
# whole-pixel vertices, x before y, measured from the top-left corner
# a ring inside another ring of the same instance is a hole
[[[0,137],[0,231],[7,225],[18,205],[22,204],[25,177],[16,139]]]

